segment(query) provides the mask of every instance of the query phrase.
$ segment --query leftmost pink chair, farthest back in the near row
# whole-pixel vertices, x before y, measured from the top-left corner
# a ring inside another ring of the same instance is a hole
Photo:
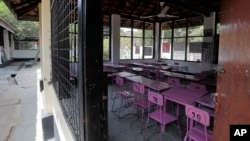
[[[112,104],[112,112],[116,112],[117,110],[119,111],[118,113],[118,118],[122,118],[121,116],[121,111],[129,106],[129,99],[134,98],[134,94],[126,90],[126,86],[124,85],[124,79],[116,76],[115,83],[117,85],[117,90],[115,97],[113,99],[113,104]],[[115,102],[117,99],[120,99],[120,106],[114,110]],[[133,100],[131,100],[133,101]]]

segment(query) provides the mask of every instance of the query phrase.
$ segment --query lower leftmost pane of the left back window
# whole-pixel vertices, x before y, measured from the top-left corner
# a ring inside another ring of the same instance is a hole
[[[131,59],[131,38],[120,38],[120,59]]]

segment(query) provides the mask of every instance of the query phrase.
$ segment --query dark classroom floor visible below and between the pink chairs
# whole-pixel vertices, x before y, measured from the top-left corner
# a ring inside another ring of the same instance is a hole
[[[111,93],[112,90],[115,90],[114,85],[109,85],[109,107],[108,107],[108,124],[109,124],[109,141],[143,141],[143,136],[146,135],[148,141],[160,141],[161,133],[159,132],[159,126],[155,125],[148,128],[147,133],[140,132],[141,126],[141,118],[136,121],[132,127],[130,127],[130,123],[134,121],[137,117],[135,115],[129,115],[122,119],[119,119],[117,113],[111,112],[112,102]],[[117,100],[116,107],[119,106],[119,100]],[[126,113],[135,113],[135,110],[130,106],[126,110],[123,111],[123,114]],[[183,112],[183,111],[182,111]],[[146,123],[147,115],[145,115],[145,119],[143,121],[143,127]],[[185,125],[185,116],[181,116],[181,125]],[[152,124],[154,122],[151,122]],[[181,130],[182,137],[179,135],[179,130],[176,126],[176,123],[169,124],[166,128],[166,132],[162,134],[162,140],[168,141],[181,141],[184,138],[185,130]]]

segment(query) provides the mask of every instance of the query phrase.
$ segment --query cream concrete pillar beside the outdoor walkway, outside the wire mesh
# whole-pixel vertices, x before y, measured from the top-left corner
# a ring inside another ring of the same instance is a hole
[[[51,27],[50,27],[50,0],[42,0],[40,4],[40,52],[41,52],[41,73],[44,82],[44,114],[52,113],[52,91],[51,88]]]

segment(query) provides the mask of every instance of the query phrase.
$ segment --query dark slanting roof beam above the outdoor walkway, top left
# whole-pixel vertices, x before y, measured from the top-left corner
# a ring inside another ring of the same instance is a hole
[[[29,11],[36,8],[39,3],[40,3],[40,0],[35,0],[32,3],[30,3],[29,5],[24,6],[24,7],[20,8],[20,9],[18,9],[18,10],[15,10],[15,13],[16,13],[17,17],[20,18],[20,17],[24,16]]]

